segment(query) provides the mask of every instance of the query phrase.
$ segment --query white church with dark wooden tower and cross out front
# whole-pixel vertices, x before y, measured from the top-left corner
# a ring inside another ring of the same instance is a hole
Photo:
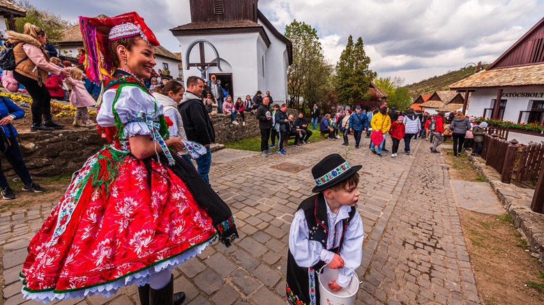
[[[170,29],[181,45],[183,77],[216,75],[234,97],[270,91],[287,101],[292,43],[257,7],[258,0],[189,0],[188,24]]]

